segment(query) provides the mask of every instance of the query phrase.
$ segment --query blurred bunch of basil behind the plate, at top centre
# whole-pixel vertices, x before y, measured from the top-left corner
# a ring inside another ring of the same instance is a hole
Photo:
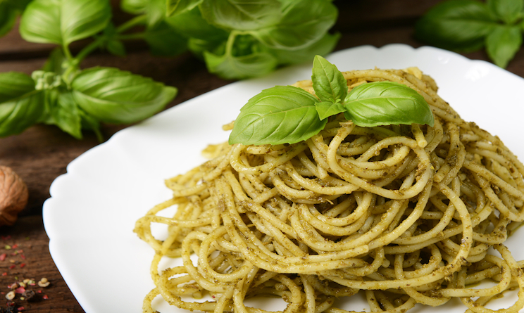
[[[332,51],[339,39],[328,32],[337,8],[325,0],[122,0],[120,7],[144,17],[142,37],[152,52],[175,56],[187,49],[224,79],[258,77],[281,65],[311,62]],[[159,12],[170,27],[162,33],[153,31],[162,23]],[[166,40],[169,44],[161,46]]]

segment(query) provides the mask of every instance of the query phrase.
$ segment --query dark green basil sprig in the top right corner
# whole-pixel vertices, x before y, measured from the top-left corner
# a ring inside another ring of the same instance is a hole
[[[489,58],[506,68],[522,45],[524,0],[442,1],[416,24],[421,41],[454,51],[485,47]]]

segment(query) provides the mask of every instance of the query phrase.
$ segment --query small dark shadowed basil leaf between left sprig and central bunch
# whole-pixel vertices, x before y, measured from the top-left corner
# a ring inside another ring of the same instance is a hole
[[[148,28],[144,32],[144,39],[151,53],[156,56],[176,56],[187,50],[187,39],[164,21]]]

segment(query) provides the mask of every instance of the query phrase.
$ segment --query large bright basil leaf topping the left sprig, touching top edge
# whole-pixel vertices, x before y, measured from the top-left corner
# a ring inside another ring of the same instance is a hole
[[[108,0],[34,0],[20,20],[20,35],[31,42],[68,45],[101,32],[109,20]]]

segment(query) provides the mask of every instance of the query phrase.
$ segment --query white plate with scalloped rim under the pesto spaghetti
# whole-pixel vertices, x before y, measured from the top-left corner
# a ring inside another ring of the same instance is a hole
[[[402,44],[359,46],[328,60],[343,71],[418,66],[435,78],[439,94],[465,120],[499,135],[524,158],[515,133],[524,116],[521,77],[449,51]],[[142,299],[153,288],[153,251],[132,229],[150,207],[170,197],[163,180],[199,165],[208,143],[226,141],[229,133],[221,126],[234,120],[251,96],[310,77],[311,64],[306,64],[229,84],[123,129],[68,165],[67,174],[51,184],[44,226],[51,256],[86,312],[142,312]],[[517,246],[514,256],[522,260]],[[354,309],[364,308],[356,303]],[[447,309],[464,312],[466,307],[448,304]],[[168,312],[185,311],[172,307]]]

